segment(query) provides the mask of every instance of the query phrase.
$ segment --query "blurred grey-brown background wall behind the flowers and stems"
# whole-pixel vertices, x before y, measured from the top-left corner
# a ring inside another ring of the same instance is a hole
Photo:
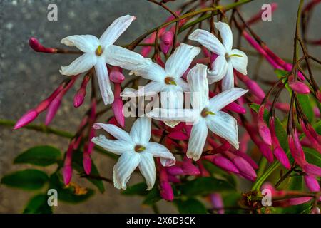
[[[169,3],[173,7],[184,0]],[[232,1],[221,1],[228,4]],[[243,6],[245,18],[256,14],[265,3],[277,2],[278,9],[272,21],[261,21],[253,29],[273,51],[284,58],[292,58],[292,40],[297,13],[297,0],[255,0]],[[58,21],[47,20],[47,6],[54,3],[58,6]],[[317,6],[310,29],[310,38],[321,38],[321,7]],[[70,55],[46,55],[35,53],[28,46],[31,36],[39,38],[46,46],[60,46],[61,38],[73,34],[101,33],[111,22],[131,14],[137,16],[136,21],[118,39],[118,44],[133,41],[148,29],[161,24],[168,12],[145,0],[0,0],[0,118],[17,120],[22,114],[33,108],[40,100],[46,98],[58,86],[63,76],[58,73],[61,65],[66,66],[75,58]],[[243,43],[245,43],[243,41]],[[245,45],[248,48],[248,46]],[[252,50],[248,48],[248,50]],[[310,48],[312,54],[320,58],[321,48]],[[253,76],[256,57],[249,55],[248,73]],[[320,71],[315,73],[320,78]],[[260,77],[275,79],[275,75],[267,63],[263,63]],[[75,132],[83,112],[88,108],[88,100],[81,108],[73,108],[73,95],[78,88],[69,91],[63,100],[60,110],[51,126]],[[107,116],[106,116],[107,119]],[[35,123],[42,123],[44,115]],[[21,165],[13,165],[14,157],[20,152],[35,145],[54,145],[66,150],[68,140],[54,135],[45,135],[31,130],[16,130],[0,126],[0,177],[5,173],[20,170]],[[98,159],[99,158],[99,159]],[[101,175],[111,177],[114,161],[93,153],[93,160],[98,165]],[[140,182],[141,176],[134,175],[129,184]],[[81,182],[81,180],[80,180]],[[83,185],[86,185],[83,182]],[[73,205],[59,202],[56,213],[145,213],[151,212],[148,207],[141,206],[141,198],[124,197],[113,186],[106,184],[104,194],[97,193],[87,202]],[[0,185],[0,212],[22,212],[34,192],[11,189]],[[171,204],[161,203],[161,212],[176,212]]]

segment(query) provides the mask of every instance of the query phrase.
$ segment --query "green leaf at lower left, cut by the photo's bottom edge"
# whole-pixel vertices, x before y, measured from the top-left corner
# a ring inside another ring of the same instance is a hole
[[[52,214],[52,209],[49,207],[47,200],[47,195],[35,195],[26,205],[24,214]]]

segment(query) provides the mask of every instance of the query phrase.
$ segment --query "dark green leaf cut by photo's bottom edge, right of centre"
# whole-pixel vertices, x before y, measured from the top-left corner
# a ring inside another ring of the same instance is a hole
[[[175,199],[175,204],[178,207],[178,212],[180,214],[205,214],[207,210],[203,203],[201,203],[198,199]]]

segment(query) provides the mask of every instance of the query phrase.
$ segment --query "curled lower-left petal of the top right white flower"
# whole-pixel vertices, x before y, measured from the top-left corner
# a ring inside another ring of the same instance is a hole
[[[226,62],[225,56],[215,58],[211,68],[211,70],[208,70],[208,83],[212,84],[222,80],[228,72],[228,62]]]

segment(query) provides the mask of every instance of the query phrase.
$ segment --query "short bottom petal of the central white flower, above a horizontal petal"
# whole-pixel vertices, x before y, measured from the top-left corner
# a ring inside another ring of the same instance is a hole
[[[161,91],[162,108],[183,108],[184,93],[183,88],[175,85],[166,85]]]

